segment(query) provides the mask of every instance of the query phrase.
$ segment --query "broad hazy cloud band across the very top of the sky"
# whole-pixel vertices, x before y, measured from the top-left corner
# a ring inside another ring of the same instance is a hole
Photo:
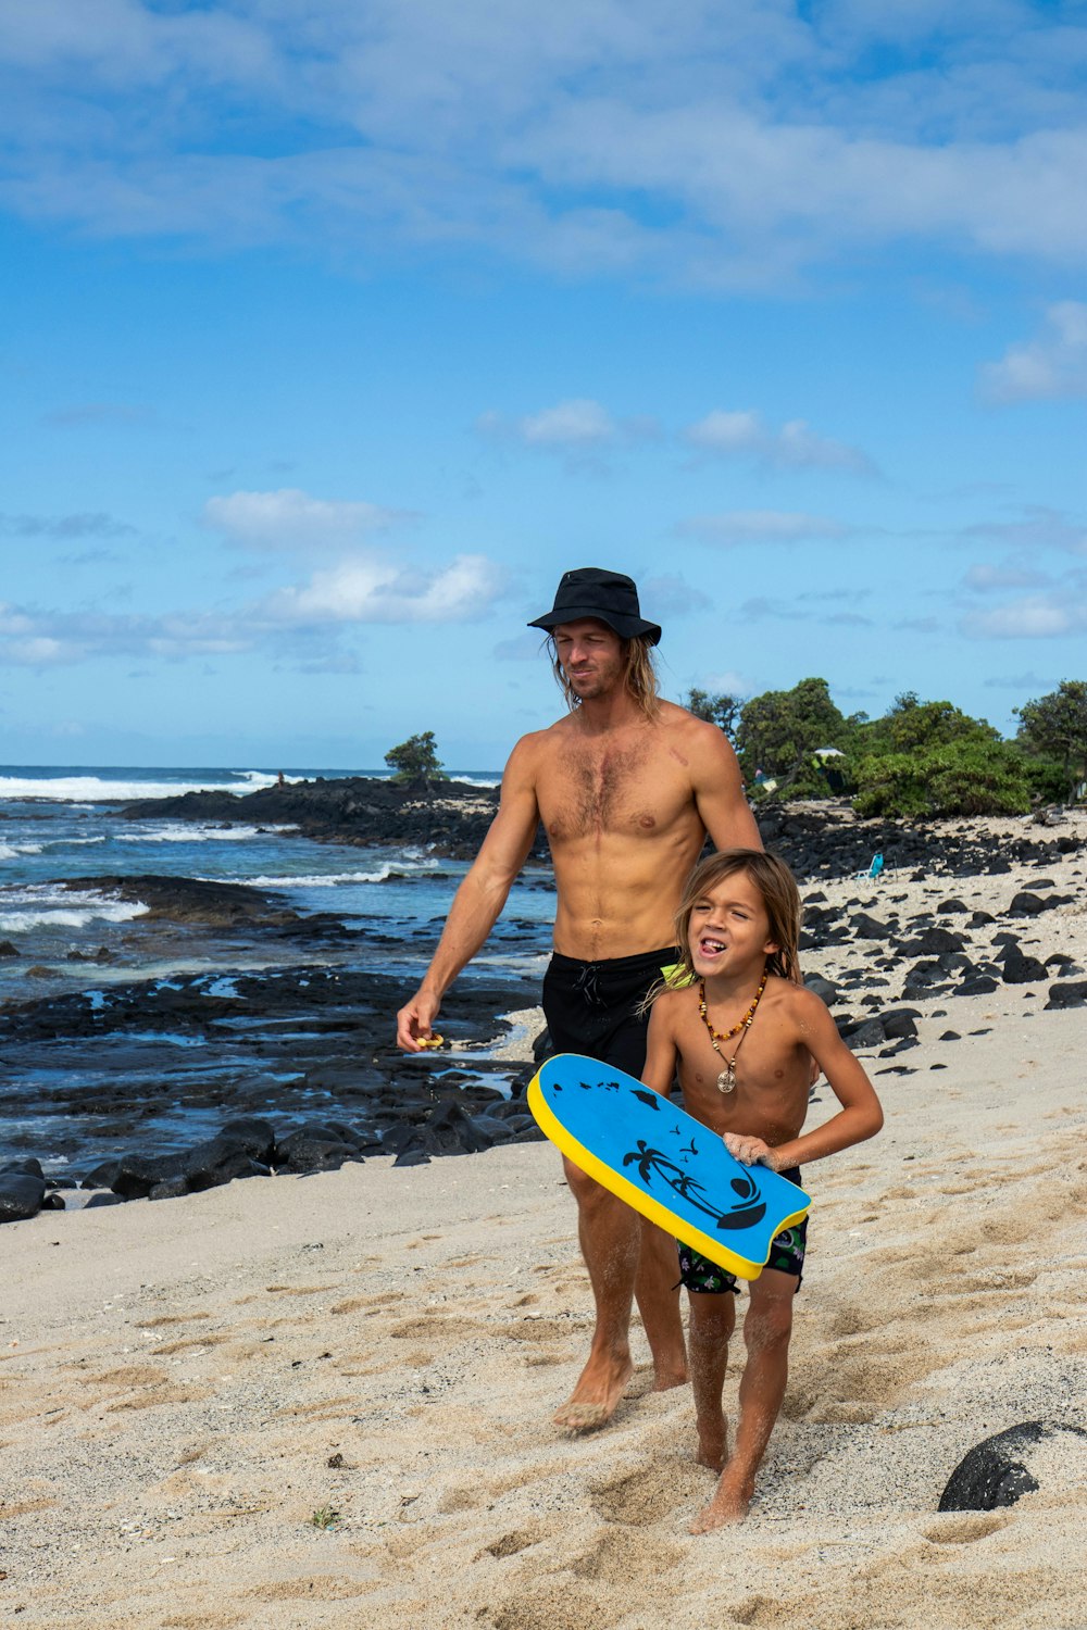
[[[0,192],[96,235],[481,246],[709,284],[918,241],[1082,264],[1071,10],[807,10],[8,5]]]

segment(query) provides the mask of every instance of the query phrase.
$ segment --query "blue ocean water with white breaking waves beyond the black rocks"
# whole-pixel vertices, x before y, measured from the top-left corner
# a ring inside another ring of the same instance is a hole
[[[380,776],[381,771],[285,769],[285,779],[342,779],[347,774]],[[497,786],[494,771],[456,771],[456,779]],[[78,986],[73,957],[99,949],[114,950],[124,931],[145,908],[122,901],[101,888],[72,890],[85,877],[134,877],[140,874],[199,877],[251,883],[274,890],[295,911],[323,911],[345,923],[372,923],[407,941],[419,927],[435,924],[466,866],[445,861],[420,848],[367,848],[315,843],[282,830],[244,825],[204,825],[179,820],[125,820],[124,805],[139,799],[217,789],[240,795],[275,782],[262,769],[127,769],[0,766],[0,941],[18,958],[0,958],[0,1001],[26,999],[52,989]],[[531,887],[517,883],[494,944],[487,945],[474,973],[510,968],[525,971],[525,955],[502,947],[504,926],[517,921],[543,929],[530,962],[546,952],[552,905],[539,877]],[[438,924],[440,926],[440,924]],[[508,937],[508,936],[507,936]],[[409,950],[399,962],[404,973],[419,967]],[[122,958],[116,976],[130,971]],[[33,991],[28,989],[28,967]]]

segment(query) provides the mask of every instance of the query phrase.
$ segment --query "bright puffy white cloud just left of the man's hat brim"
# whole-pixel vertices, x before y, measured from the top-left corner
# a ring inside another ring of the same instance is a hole
[[[315,572],[301,588],[280,588],[262,603],[274,623],[471,623],[505,592],[505,574],[482,554],[460,554],[438,570],[403,569],[357,556]]]

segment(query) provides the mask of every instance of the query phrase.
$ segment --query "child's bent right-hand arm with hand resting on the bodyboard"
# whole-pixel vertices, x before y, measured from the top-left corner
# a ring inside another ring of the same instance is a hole
[[[790,1138],[789,1143],[782,1143],[776,1149],[771,1149],[761,1138],[725,1133],[725,1148],[737,1161],[745,1165],[769,1165],[776,1172],[790,1165],[807,1165],[808,1161],[821,1161],[828,1154],[849,1149],[854,1143],[864,1143],[865,1138],[875,1138],[883,1125],[883,1110],[875,1089],[838,1035],[838,1025],[823,1002],[812,991],[797,991],[794,1002],[797,1040],[808,1048],[826,1076],[841,1110],[816,1131]]]

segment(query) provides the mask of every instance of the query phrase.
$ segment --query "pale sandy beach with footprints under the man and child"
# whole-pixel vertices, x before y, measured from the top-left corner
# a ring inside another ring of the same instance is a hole
[[[1087,965],[1082,861],[1045,875],[1077,898],[1017,923],[1023,950]],[[957,895],[991,936],[1035,880],[823,892],[877,914]],[[590,1296],[549,1146],[7,1226],[3,1623],[1085,1625],[1087,1454],[1015,1506],[937,1514],[979,1439],[1087,1425],[1087,1009],[1045,1001],[916,1001],[919,1046],[862,1051],[887,1126],[805,1174],[789,1394],[742,1531],[686,1532],[714,1478],[640,1330],[611,1426],[551,1425]],[[812,1123],[833,1108],[821,1087]]]

